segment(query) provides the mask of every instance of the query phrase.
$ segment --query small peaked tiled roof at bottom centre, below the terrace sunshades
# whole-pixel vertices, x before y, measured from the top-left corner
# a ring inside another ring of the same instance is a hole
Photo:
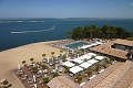
[[[58,76],[47,84],[50,88],[80,88],[78,84],[65,76]]]

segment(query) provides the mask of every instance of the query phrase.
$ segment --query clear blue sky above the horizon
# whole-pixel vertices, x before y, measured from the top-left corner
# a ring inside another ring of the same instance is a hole
[[[0,0],[0,18],[133,19],[133,0]]]

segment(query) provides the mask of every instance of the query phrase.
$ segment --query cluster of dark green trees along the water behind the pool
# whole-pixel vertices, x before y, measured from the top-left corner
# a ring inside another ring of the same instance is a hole
[[[102,28],[95,25],[88,25],[84,28],[78,26],[72,31],[68,31],[69,38],[127,38],[133,37],[133,32],[127,32],[123,28],[103,25]],[[132,40],[132,38],[130,38]]]

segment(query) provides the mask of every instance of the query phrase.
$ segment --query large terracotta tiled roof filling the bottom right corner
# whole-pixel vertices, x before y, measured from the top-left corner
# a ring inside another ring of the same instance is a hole
[[[133,62],[123,64],[115,63],[89,80],[82,88],[132,88],[133,87]]]

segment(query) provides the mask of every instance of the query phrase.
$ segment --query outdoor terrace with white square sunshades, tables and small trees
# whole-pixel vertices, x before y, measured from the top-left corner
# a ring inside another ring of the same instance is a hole
[[[92,58],[93,56],[91,55],[95,55],[95,57]],[[30,65],[25,65],[24,67],[20,67],[18,65],[18,69],[14,70],[14,73],[24,84],[25,88],[35,88],[35,86],[38,86],[38,88],[43,88],[43,86],[48,88],[43,80],[44,78],[52,80],[55,76],[66,76],[70,80],[80,85],[89,81],[91,76],[99,75],[101,69],[105,69],[111,65],[105,63],[105,61],[109,58],[101,58],[103,56],[99,56],[94,53],[86,53],[85,55],[81,54],[79,55],[79,58],[76,55],[74,57],[70,57],[70,55],[68,55],[70,59],[65,61],[62,61],[63,56],[66,56],[66,54],[52,58],[48,57],[44,58],[43,62],[31,62]],[[110,62],[113,63],[113,61]],[[105,64],[105,66],[102,66],[103,64]],[[100,67],[98,67],[98,65],[100,65]],[[66,69],[68,67],[69,69]],[[88,74],[89,70],[92,74]],[[78,79],[79,74],[82,75],[81,81]]]

